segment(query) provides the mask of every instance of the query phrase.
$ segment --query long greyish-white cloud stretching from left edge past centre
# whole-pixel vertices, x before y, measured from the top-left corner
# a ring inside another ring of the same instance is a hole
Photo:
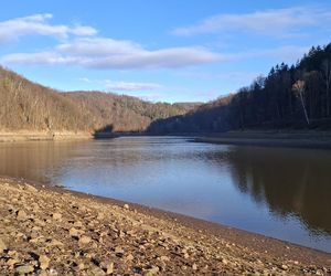
[[[84,38],[41,53],[2,56],[4,64],[77,65],[89,68],[178,68],[222,61],[222,55],[203,47],[147,50],[132,41]]]

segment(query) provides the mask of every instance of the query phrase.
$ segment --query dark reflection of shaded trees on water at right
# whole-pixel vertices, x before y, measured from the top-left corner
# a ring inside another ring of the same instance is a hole
[[[277,215],[295,214],[311,230],[331,233],[330,151],[232,147],[226,160],[241,192]]]

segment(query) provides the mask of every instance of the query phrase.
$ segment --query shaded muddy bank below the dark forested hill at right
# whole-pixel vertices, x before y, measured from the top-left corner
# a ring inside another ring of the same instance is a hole
[[[329,131],[231,131],[196,137],[194,141],[264,147],[331,149],[331,134]]]

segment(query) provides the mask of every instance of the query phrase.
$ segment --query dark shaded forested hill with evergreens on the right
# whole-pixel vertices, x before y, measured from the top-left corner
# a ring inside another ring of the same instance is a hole
[[[331,129],[331,44],[311,47],[296,65],[278,64],[236,94],[183,116],[157,120],[150,132],[236,129]]]

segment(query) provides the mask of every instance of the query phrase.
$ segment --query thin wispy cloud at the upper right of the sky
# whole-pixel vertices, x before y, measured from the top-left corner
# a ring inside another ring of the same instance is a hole
[[[287,8],[252,13],[227,13],[204,19],[172,31],[177,35],[195,35],[227,31],[252,32],[270,36],[291,36],[302,33],[305,26],[327,26],[331,12],[317,7]]]

